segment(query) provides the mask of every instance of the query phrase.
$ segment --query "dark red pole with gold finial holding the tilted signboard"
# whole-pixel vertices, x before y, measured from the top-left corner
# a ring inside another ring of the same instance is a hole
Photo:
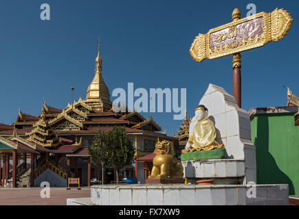
[[[232,12],[232,21],[241,19],[241,13],[238,8]],[[236,104],[241,108],[241,54],[232,55],[232,96],[236,99]]]

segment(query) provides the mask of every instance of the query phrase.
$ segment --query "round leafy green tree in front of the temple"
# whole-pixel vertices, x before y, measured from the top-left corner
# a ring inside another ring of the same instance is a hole
[[[122,127],[114,127],[108,133],[99,132],[93,140],[93,146],[89,147],[91,160],[95,164],[115,167],[116,181],[119,181],[120,169],[133,163],[134,153],[133,144]]]

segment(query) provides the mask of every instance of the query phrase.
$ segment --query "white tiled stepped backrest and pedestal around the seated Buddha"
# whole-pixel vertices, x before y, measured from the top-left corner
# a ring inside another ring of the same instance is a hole
[[[199,105],[208,108],[208,118],[217,130],[217,142],[225,145],[226,161],[186,162],[186,178],[238,178],[244,177],[245,184],[256,182],[256,152],[251,141],[250,116],[238,107],[234,96],[223,88],[210,83]],[[192,135],[197,120],[190,123]],[[241,162],[240,162],[241,161]],[[182,162],[184,163],[184,162]]]

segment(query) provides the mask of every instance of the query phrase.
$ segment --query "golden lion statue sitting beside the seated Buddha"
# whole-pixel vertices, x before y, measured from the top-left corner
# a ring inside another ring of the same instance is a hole
[[[157,142],[156,156],[153,159],[153,169],[148,179],[182,179],[183,166],[174,157],[173,142],[164,140]]]

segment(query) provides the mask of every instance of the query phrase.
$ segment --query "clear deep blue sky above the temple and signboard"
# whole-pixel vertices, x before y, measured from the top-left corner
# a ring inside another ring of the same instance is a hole
[[[51,20],[41,21],[49,3]],[[0,3],[0,123],[12,124],[19,108],[38,116],[43,95],[48,105],[64,108],[85,99],[101,38],[103,77],[114,88],[187,88],[188,116],[209,83],[232,93],[232,57],[197,63],[188,50],[197,34],[231,22],[234,8],[247,14],[285,8],[294,18],[280,42],[242,53],[242,106],[283,106],[289,86],[299,96],[298,1],[68,1],[3,0]],[[111,98],[113,101],[115,97]],[[148,113],[143,114],[146,118]],[[176,133],[173,113],[153,113],[154,120]]]

